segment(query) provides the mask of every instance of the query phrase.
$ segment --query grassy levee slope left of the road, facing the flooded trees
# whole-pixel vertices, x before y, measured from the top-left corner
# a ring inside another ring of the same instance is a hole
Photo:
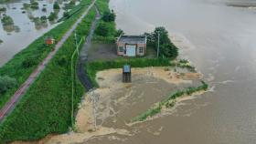
[[[17,86],[11,89],[8,89],[5,94],[0,96],[0,108],[5,105],[5,102],[14,95],[17,88],[20,87],[27,77],[32,73],[37,65],[48,56],[48,53],[55,46],[46,46],[44,44],[44,39],[46,36],[53,36],[58,42],[62,36],[69,30],[69,28],[76,22],[80,15],[87,8],[86,5],[90,5],[92,0],[82,0],[80,5],[74,7],[69,13],[72,14],[74,11],[77,11],[77,7],[82,6],[81,10],[76,14],[72,15],[59,24],[55,28],[51,29],[44,36],[38,37],[33,43],[24,48],[22,51],[16,54],[11,60],[9,60],[4,67],[0,67],[0,76],[8,76],[16,78]]]

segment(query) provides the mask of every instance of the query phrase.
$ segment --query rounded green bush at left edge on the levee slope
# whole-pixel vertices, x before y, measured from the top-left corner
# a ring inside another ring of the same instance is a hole
[[[11,77],[0,77],[0,94],[3,95],[9,88],[16,87],[16,79]]]

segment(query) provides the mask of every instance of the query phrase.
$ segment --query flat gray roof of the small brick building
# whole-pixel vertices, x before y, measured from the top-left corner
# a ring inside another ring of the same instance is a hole
[[[146,36],[121,36],[118,39],[118,42],[127,44],[146,44]]]

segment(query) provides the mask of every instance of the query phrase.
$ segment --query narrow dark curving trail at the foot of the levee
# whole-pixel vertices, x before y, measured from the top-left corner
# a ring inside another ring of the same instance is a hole
[[[95,6],[95,9],[96,9],[97,15],[96,15],[96,18],[95,18],[95,20],[93,21],[93,23],[91,25],[90,34],[89,34],[89,36],[87,36],[86,42],[85,42],[84,46],[82,47],[82,49],[80,51],[80,57],[79,57],[79,61],[78,61],[78,64],[77,64],[77,75],[80,79],[81,84],[87,90],[91,89],[93,86],[91,84],[90,78],[88,77],[88,75],[84,71],[84,64],[88,60],[88,51],[89,51],[89,48],[91,47],[91,39],[93,37],[95,28],[96,28],[97,24],[99,23],[99,21],[101,19],[101,15],[100,15],[100,12],[99,12],[97,6]]]

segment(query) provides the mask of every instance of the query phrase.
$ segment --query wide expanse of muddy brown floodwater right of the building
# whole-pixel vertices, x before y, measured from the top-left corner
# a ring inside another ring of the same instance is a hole
[[[254,1],[251,1],[254,2]],[[254,144],[256,141],[256,11],[207,0],[112,0],[117,26],[141,34],[165,26],[187,46],[214,92],[187,100],[173,115],[138,124],[132,137],[91,143]],[[158,131],[158,135],[154,132]]]

